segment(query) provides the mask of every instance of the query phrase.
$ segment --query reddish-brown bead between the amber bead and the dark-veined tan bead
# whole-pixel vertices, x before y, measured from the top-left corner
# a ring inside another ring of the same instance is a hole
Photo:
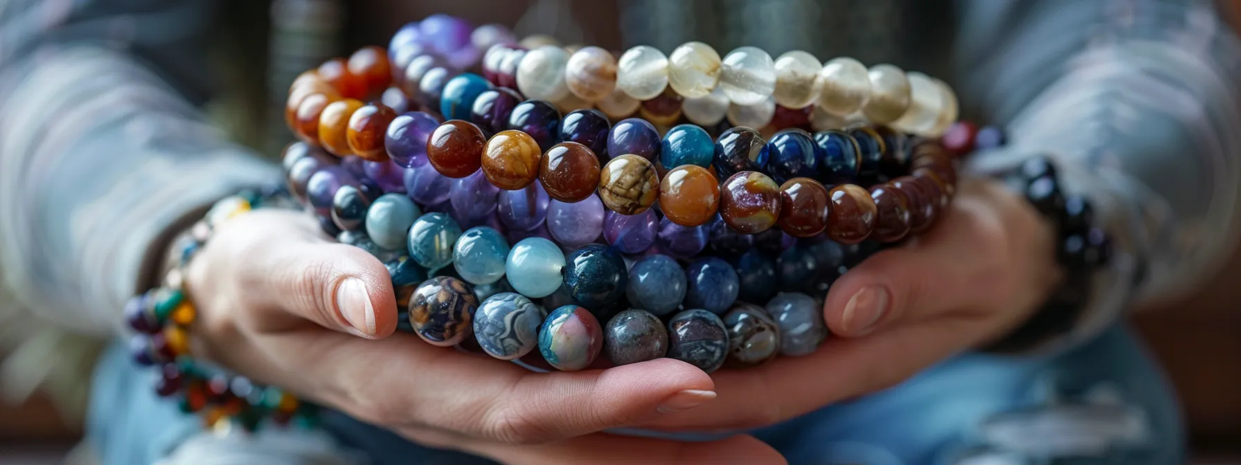
[[[560,143],[547,149],[539,169],[539,181],[551,198],[580,202],[599,186],[599,159],[586,145]]]

